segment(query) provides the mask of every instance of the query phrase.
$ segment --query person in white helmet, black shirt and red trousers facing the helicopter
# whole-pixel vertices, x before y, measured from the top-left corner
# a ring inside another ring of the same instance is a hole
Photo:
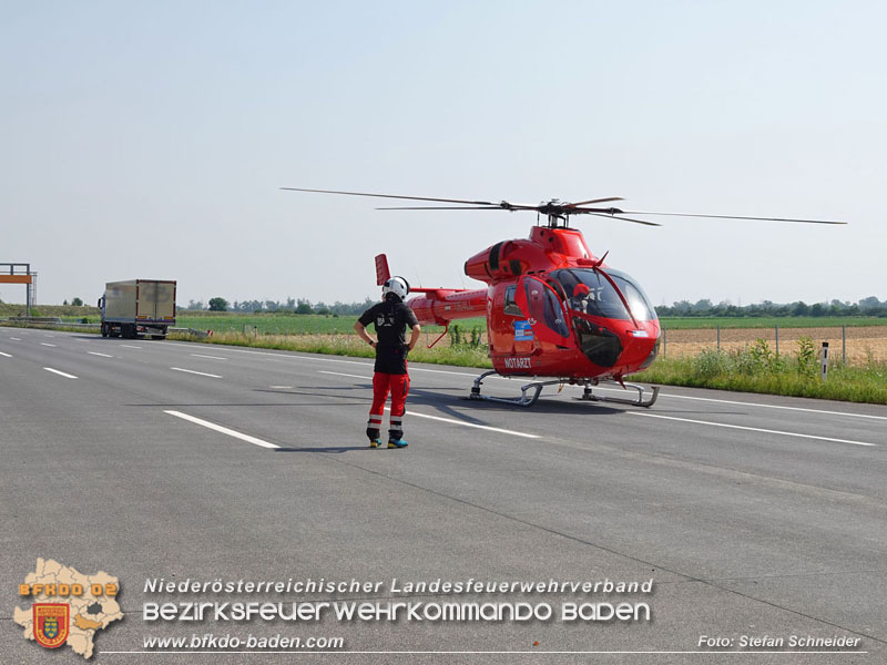
[[[409,285],[402,277],[391,277],[381,288],[383,301],[367,309],[354,329],[360,339],[376,349],[376,366],[373,375],[373,406],[369,408],[367,437],[369,447],[378,448],[381,443],[380,430],[385,402],[391,393],[391,419],[388,429],[388,448],[406,448],[404,439],[404,413],[407,393],[409,392],[409,375],[407,374],[407,354],[419,342],[421,328],[416,315],[404,301],[409,293]],[[376,327],[373,339],[366,327]],[[410,328],[407,342],[406,331]]]

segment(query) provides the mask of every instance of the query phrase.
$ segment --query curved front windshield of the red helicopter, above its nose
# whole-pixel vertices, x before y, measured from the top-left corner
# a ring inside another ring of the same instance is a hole
[[[622,291],[636,320],[648,321],[656,318],[656,313],[646,296],[631,277],[612,269],[608,269],[606,275]],[[549,276],[563,286],[571,309],[603,318],[631,319],[619,293],[600,268],[562,268],[553,270]]]

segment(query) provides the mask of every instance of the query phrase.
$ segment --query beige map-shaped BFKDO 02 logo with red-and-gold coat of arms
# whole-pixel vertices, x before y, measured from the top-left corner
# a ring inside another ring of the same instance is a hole
[[[38,559],[19,584],[19,597],[33,598],[30,608],[16,607],[22,636],[45,648],[64,644],[84,658],[93,654],[95,633],[123,618],[116,596],[120,581],[103,571],[84,575],[58,561]]]

